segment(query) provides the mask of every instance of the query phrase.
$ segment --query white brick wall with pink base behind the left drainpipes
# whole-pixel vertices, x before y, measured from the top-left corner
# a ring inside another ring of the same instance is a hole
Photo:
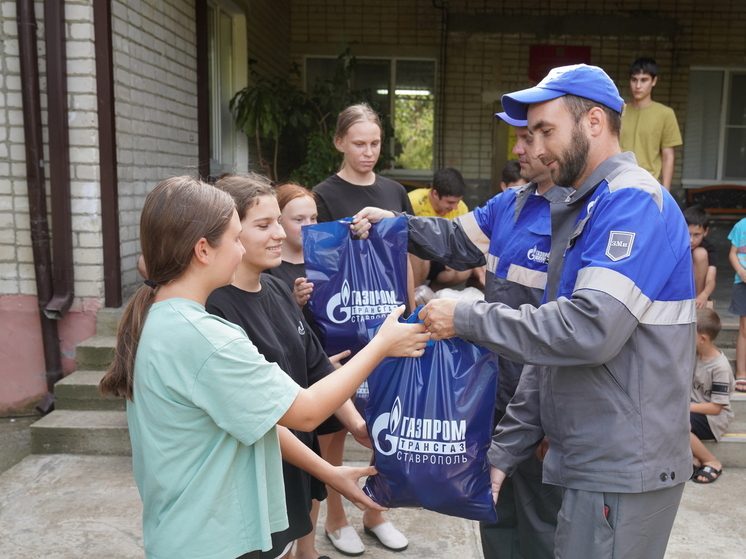
[[[43,3],[36,2],[42,122],[46,126]],[[46,392],[39,305],[31,248],[16,2],[0,2],[0,414],[36,402]],[[75,346],[95,331],[103,294],[98,134],[90,0],[65,2],[68,56],[70,189],[75,299],[58,322],[65,373]],[[44,169],[49,192],[47,134]],[[50,219],[51,227],[51,219]]]

